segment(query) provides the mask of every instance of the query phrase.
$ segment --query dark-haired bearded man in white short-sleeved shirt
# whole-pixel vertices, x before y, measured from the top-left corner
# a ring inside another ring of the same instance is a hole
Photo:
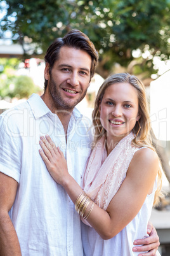
[[[86,95],[98,55],[89,38],[73,30],[49,46],[45,60],[44,94],[34,94],[0,117],[3,256],[83,255],[79,215],[49,175],[38,150],[39,137],[48,133],[62,148],[70,174],[81,183],[91,135],[86,119],[74,107]],[[157,236],[153,238],[155,244],[147,250],[159,245]]]

